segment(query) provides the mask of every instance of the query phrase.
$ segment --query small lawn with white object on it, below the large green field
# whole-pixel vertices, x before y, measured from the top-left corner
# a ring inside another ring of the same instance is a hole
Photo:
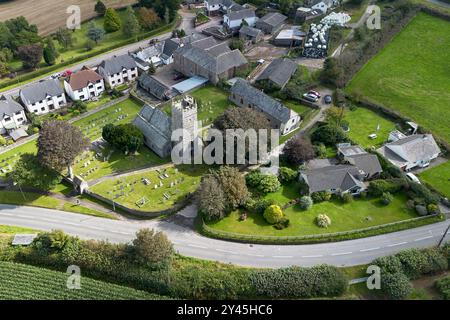
[[[348,137],[364,148],[380,147],[387,141],[389,133],[395,130],[395,124],[392,121],[362,107],[353,111],[347,109],[344,119],[348,121],[350,127]],[[377,130],[378,125],[380,130]],[[372,133],[377,135],[376,139],[369,138]]]

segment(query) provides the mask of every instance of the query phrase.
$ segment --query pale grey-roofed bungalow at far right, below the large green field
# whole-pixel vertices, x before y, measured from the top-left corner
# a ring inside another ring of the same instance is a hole
[[[427,167],[441,153],[431,134],[414,134],[387,143],[377,151],[404,171]]]

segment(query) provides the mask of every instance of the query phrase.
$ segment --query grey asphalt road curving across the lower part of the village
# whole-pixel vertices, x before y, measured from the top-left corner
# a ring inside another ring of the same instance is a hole
[[[185,209],[195,211],[194,206]],[[352,266],[407,248],[438,244],[450,221],[376,237],[312,245],[249,245],[205,238],[187,227],[165,221],[118,221],[50,209],[0,205],[0,225],[37,230],[60,229],[82,239],[127,243],[137,230],[164,231],[180,254],[252,267],[312,266],[327,263]],[[450,240],[449,234],[446,241]]]

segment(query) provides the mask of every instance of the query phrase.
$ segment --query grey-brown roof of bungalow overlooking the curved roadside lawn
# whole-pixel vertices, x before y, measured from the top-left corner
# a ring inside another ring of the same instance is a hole
[[[301,174],[310,193],[331,189],[347,191],[356,186],[364,188],[364,184],[357,178],[360,175],[358,168],[351,165],[301,171]]]

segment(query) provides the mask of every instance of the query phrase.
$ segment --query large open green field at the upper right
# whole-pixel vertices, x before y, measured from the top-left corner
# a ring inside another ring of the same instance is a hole
[[[450,141],[450,22],[419,13],[347,87]]]

